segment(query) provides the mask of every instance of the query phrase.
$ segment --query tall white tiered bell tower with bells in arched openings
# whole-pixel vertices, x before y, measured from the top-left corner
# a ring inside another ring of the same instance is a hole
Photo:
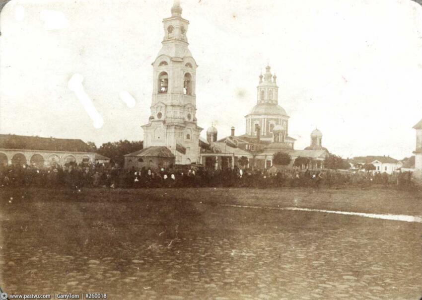
[[[177,164],[199,161],[202,128],[196,119],[196,64],[188,48],[189,21],[174,1],[171,16],[163,19],[164,38],[153,67],[151,116],[142,126],[143,147],[164,146]]]

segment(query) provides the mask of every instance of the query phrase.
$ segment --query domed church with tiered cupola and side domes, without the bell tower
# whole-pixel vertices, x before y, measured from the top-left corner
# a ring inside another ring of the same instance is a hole
[[[217,139],[217,129],[211,126],[207,130],[207,142],[210,147],[202,148],[201,163],[215,168],[234,167],[239,165],[239,158],[248,159],[245,167],[269,169],[273,166],[274,154],[288,153],[292,160],[297,157],[306,158],[306,168],[323,167],[324,159],[329,155],[322,147],[322,133],[315,129],[311,133],[311,143],[304,150],[295,150],[295,139],[288,135],[289,116],[279,105],[279,86],[277,76],[272,75],[271,67],[266,67],[266,73],[259,76],[257,86],[257,104],[245,116],[246,133],[235,135],[234,127],[231,134]]]

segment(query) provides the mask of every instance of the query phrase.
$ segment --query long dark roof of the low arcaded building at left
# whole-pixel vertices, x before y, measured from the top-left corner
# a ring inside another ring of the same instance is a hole
[[[82,140],[1,135],[0,149],[93,152]]]

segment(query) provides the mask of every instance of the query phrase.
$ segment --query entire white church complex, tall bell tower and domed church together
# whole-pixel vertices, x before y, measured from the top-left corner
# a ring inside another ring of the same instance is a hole
[[[288,135],[289,116],[279,105],[277,76],[266,67],[259,76],[256,105],[245,116],[245,134],[217,139],[217,129],[207,130],[207,141],[196,118],[196,70],[198,65],[189,50],[189,21],[182,17],[178,0],[171,16],[163,19],[164,38],[161,50],[152,63],[152,101],[148,123],[142,125],[143,149],[125,155],[125,167],[168,167],[172,164],[202,164],[224,168],[239,165],[260,169],[273,166],[274,154],[280,151],[309,158],[310,166],[322,167],[328,150],[322,147],[322,134],[315,130],[311,145],[294,150],[295,139]],[[244,157],[242,157],[244,156]],[[293,163],[293,162],[292,162]]]

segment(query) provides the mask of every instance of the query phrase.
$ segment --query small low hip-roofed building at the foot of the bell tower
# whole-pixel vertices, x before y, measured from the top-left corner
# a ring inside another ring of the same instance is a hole
[[[169,167],[174,164],[175,156],[167,147],[147,147],[125,155],[125,168],[132,167],[141,169],[142,167],[157,169],[159,167]]]

